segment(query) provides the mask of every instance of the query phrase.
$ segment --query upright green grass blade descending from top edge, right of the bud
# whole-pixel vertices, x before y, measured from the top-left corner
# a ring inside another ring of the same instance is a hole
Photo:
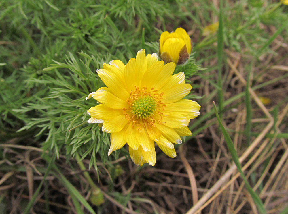
[[[217,50],[218,50],[218,101],[219,101],[219,111],[220,117],[222,118],[223,113],[223,90],[222,90],[222,62],[223,62],[223,0],[220,0],[220,10],[219,10],[219,29],[217,36]]]

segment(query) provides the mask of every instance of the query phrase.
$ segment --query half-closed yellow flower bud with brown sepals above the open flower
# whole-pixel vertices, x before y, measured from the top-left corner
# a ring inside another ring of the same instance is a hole
[[[192,42],[183,28],[177,28],[175,32],[165,31],[160,36],[159,54],[165,63],[174,62],[177,65],[184,64],[191,53]]]

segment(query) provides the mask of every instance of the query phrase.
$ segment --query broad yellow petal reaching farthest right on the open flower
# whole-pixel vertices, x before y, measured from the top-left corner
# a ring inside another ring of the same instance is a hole
[[[200,105],[197,102],[181,99],[175,103],[166,104],[165,112],[169,114],[181,112],[184,117],[194,119],[200,115],[199,109]]]

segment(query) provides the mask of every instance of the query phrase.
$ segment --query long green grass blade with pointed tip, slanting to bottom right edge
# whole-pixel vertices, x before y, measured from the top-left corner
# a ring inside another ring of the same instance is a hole
[[[245,175],[244,175],[244,173],[243,173],[243,171],[242,171],[242,167],[241,167],[241,164],[240,164],[240,162],[239,162],[237,152],[236,152],[236,150],[235,150],[235,148],[234,148],[234,144],[233,144],[233,142],[232,142],[232,140],[231,140],[228,132],[226,131],[225,127],[224,127],[224,126],[222,125],[222,123],[221,123],[221,119],[220,119],[220,117],[219,117],[219,115],[218,115],[218,113],[217,113],[217,109],[216,109],[215,102],[213,102],[213,105],[214,105],[214,110],[215,110],[215,114],[216,114],[217,120],[218,120],[218,122],[219,122],[219,126],[220,126],[220,128],[221,128],[221,130],[222,130],[222,133],[223,133],[223,135],[224,135],[224,138],[225,138],[225,140],[226,140],[227,147],[228,147],[228,149],[229,149],[229,151],[230,151],[230,153],[231,153],[232,159],[233,159],[233,161],[234,161],[234,163],[235,163],[238,171],[240,172],[240,174],[241,174],[241,176],[242,176],[242,179],[243,179],[244,182],[245,182],[245,186],[246,186],[247,190],[249,191],[249,193],[250,193],[250,195],[251,195],[251,197],[252,197],[255,205],[257,206],[259,212],[262,213],[262,214],[266,214],[266,210],[265,210],[265,208],[264,208],[264,205],[263,205],[261,199],[260,199],[259,196],[253,191],[253,189],[251,188],[249,182],[247,181],[247,179],[246,179],[246,177],[245,177]]]

